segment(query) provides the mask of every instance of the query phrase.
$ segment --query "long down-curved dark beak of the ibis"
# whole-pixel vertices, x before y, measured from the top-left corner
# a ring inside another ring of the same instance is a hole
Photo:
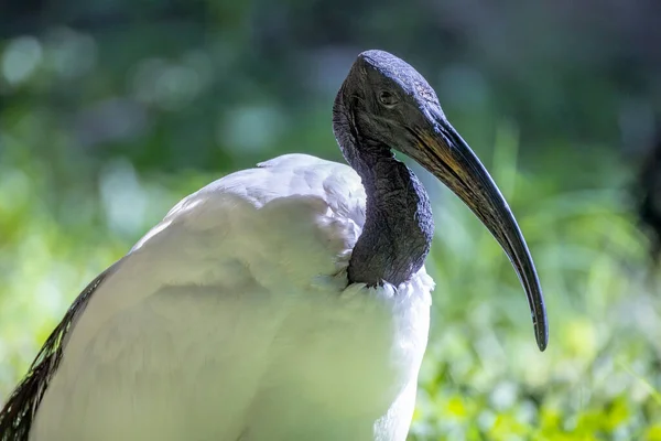
[[[544,351],[549,343],[544,298],[514,215],[489,172],[440,109],[427,109],[426,117],[431,127],[409,128],[418,144],[410,155],[452,190],[498,240],[525,290],[537,344]]]

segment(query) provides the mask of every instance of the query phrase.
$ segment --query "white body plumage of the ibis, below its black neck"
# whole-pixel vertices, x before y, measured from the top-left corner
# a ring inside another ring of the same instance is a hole
[[[433,281],[347,287],[365,198],[305,154],[184,198],[77,314],[30,440],[404,440]]]

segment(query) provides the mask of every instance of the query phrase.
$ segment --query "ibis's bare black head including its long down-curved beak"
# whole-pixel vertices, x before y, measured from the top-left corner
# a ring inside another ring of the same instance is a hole
[[[380,146],[407,154],[475,213],[517,270],[528,295],[538,346],[544,351],[546,312],[525,239],[498,186],[447,121],[423,76],[387,52],[361,53],[337,95],[334,121],[340,144],[350,137],[358,149]]]

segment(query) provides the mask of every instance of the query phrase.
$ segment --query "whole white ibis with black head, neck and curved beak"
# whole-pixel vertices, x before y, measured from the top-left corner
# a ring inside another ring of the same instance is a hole
[[[539,277],[498,186],[434,89],[360,53],[333,103],[346,164],[289,153],[177,203],[76,298],[0,412],[2,441],[405,440],[427,345],[430,197],[453,191]],[[436,294],[437,295],[437,294]]]

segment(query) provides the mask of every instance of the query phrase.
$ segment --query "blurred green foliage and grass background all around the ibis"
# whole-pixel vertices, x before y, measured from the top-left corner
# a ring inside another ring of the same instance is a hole
[[[356,54],[416,66],[492,172],[548,299],[434,195],[412,440],[661,440],[661,300],[627,187],[661,109],[659,3],[30,0],[0,6],[0,396],[177,200],[284,152],[340,160]],[[419,170],[419,169],[416,169]],[[422,174],[422,173],[421,173]]]

